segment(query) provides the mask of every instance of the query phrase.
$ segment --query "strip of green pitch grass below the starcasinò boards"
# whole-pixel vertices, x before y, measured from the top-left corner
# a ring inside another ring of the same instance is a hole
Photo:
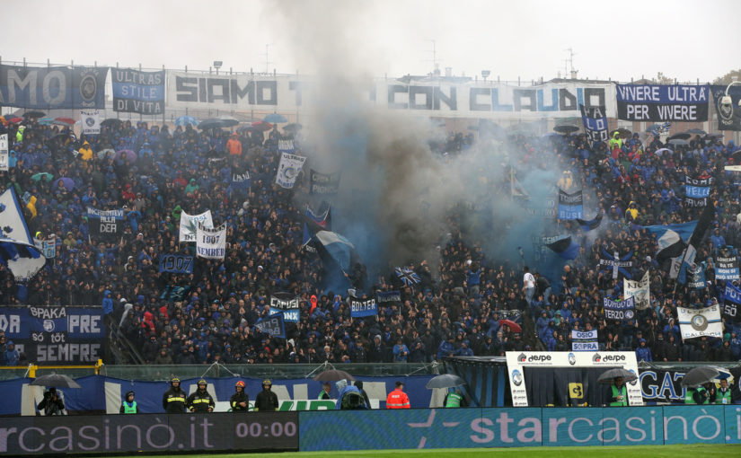
[[[712,458],[715,456],[741,456],[741,445],[636,445],[624,447],[520,447],[520,448],[444,448],[426,450],[363,450],[357,452],[288,452],[282,454],[184,454],[183,457],[198,458],[297,458],[312,456],[331,457],[364,457],[380,456],[382,458],[402,458],[407,456],[424,456],[425,458],[464,458],[500,454],[509,457],[543,457],[543,458]],[[163,455],[159,455],[163,456]],[[142,454],[122,458],[141,458]]]

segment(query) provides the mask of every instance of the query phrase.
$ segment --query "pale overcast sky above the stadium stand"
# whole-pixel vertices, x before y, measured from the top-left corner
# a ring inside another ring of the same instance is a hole
[[[590,79],[741,68],[738,0],[30,0],[0,24],[4,62],[398,76],[431,71],[434,46],[443,71],[506,80],[556,77],[567,48]]]

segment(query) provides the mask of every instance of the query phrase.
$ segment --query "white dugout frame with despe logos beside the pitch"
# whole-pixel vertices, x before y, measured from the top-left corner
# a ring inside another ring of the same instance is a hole
[[[622,367],[638,374],[636,354],[632,351],[507,351],[507,372],[512,405],[527,407],[525,367],[599,368]],[[628,402],[631,406],[642,406],[638,382],[627,383]]]

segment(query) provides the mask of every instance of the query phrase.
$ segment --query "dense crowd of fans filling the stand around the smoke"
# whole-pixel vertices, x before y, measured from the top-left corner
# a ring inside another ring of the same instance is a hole
[[[712,176],[715,219],[697,259],[741,243],[741,186],[723,170],[737,147],[718,137],[696,136],[666,150],[658,137],[644,144],[638,134],[592,147],[583,135],[508,136],[500,147],[515,158],[520,181],[535,169],[565,171],[559,187],[584,189],[584,207],[604,214],[590,232],[560,222],[580,245],[578,257],[559,267],[560,277],[530,264],[535,290],[527,304],[524,263],[490,259],[462,223],[477,210],[455,206],[439,259],[409,265],[419,283],[400,284],[393,271],[384,273],[366,294],[400,290],[401,302],[381,304],[377,317],[350,319],[348,294],[322,289],[329,272],[302,250],[305,177],[295,189],[275,184],[278,140],[286,135],[277,128],[232,134],[123,121],[76,138],[68,127],[30,121],[4,130],[12,148],[0,191],[13,187],[24,196],[31,233],[40,240],[56,236],[57,256],[28,286],[0,265],[0,304],[101,304],[149,364],[430,362],[570,350],[571,330],[591,329],[598,330],[600,348],[635,350],[640,360],[741,360],[737,323],[724,321],[722,339],[680,337],[677,306],[722,302],[712,262],[703,264],[704,287],[676,286],[654,259],[654,236],[641,228],[697,219],[701,210],[683,202],[684,175]],[[490,139],[481,131],[478,138],[451,135],[432,150],[454,157],[484,145]],[[119,150],[136,157],[117,158]],[[244,195],[230,186],[232,172],[243,170],[251,176]],[[510,176],[493,183],[491,198],[511,198]],[[59,185],[60,177],[71,179],[71,189]],[[86,207],[123,207],[123,236],[91,240]],[[160,273],[160,254],[194,254],[193,244],[178,242],[181,212],[208,209],[215,223],[227,225],[225,260],[198,259],[192,276]],[[632,278],[650,271],[651,307],[632,320],[604,319],[602,298],[619,299],[623,291],[622,277],[599,269],[603,248],[633,251]],[[300,320],[287,324],[287,339],[256,330],[269,314],[270,295],[287,291],[301,300]],[[0,355],[4,364],[22,364],[4,338]]]

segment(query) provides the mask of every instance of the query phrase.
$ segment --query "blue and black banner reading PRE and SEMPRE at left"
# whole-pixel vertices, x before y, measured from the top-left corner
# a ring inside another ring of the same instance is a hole
[[[102,357],[105,325],[97,307],[0,307],[0,330],[34,363],[94,363]]]

